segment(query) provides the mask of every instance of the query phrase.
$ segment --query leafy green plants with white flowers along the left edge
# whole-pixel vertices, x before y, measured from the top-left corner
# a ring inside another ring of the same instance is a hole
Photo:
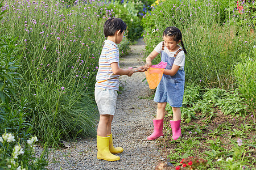
[[[0,20],[4,13],[1,12]],[[1,27],[1,31],[8,29]],[[36,158],[34,144],[37,139],[31,141],[32,127],[25,120],[26,99],[18,101],[15,96],[18,87],[15,71],[20,57],[16,55],[19,50],[16,41],[17,38],[0,35],[0,169],[44,169],[47,148]],[[31,142],[27,143],[27,139]]]

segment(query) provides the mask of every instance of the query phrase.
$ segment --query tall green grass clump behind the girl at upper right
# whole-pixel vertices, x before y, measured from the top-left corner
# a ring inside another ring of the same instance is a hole
[[[254,1],[241,1],[239,10],[233,1],[164,1],[142,19],[147,53],[162,41],[166,27],[176,26],[188,50],[186,81],[233,88],[234,65],[241,61],[241,53],[250,56],[255,45],[253,5]]]

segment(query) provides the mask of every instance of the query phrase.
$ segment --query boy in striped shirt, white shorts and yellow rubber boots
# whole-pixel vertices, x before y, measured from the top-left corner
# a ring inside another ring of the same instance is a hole
[[[143,72],[145,67],[137,67],[136,69],[121,69],[119,67],[119,50],[117,44],[123,39],[123,34],[126,30],[126,24],[120,18],[111,18],[106,20],[104,24],[104,35],[107,37],[102,48],[99,58],[98,73],[96,76],[97,83],[95,84],[95,100],[100,112],[100,121],[97,130],[97,149],[98,159],[108,161],[119,160],[118,154],[123,151],[122,147],[113,146],[113,138],[111,133],[111,124],[115,113],[115,105],[117,101],[117,91],[119,87],[119,78],[114,78],[117,75],[133,75],[135,70]],[[113,78],[113,79],[110,79]],[[106,80],[100,82],[101,80]]]

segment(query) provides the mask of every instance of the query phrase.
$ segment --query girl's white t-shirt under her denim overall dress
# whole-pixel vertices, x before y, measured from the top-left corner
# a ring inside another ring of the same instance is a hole
[[[163,41],[162,41],[162,42],[159,42],[159,44],[156,45],[156,47],[155,47],[154,50],[155,50],[157,53],[161,53],[161,51],[162,51],[162,44],[163,44]],[[180,45],[179,45],[179,46],[180,46]],[[179,49],[181,49],[181,46],[180,46]],[[179,50],[179,49],[177,49],[177,50]],[[170,51],[166,48],[166,46],[164,46],[164,52],[166,52],[169,57],[174,57],[174,54],[176,54],[177,51],[176,51],[176,52],[170,52]],[[184,53],[183,50],[177,54],[177,56],[176,56],[176,58],[175,58],[175,60],[174,60],[174,65],[180,66],[180,69],[184,69],[184,66],[185,66],[185,53]]]

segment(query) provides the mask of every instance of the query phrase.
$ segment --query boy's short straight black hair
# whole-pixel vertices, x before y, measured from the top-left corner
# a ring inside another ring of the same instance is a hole
[[[121,29],[121,33],[126,30],[126,23],[121,18],[110,18],[106,20],[103,31],[105,37],[115,35],[115,31]]]

